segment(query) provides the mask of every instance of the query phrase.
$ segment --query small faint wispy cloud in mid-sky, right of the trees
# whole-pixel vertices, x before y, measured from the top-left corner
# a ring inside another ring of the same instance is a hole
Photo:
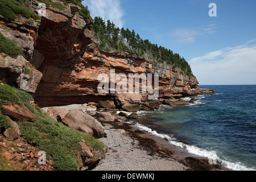
[[[206,26],[192,27],[192,28],[178,28],[171,32],[171,36],[175,38],[177,43],[187,44],[194,43],[196,38],[201,35],[215,33],[215,24],[208,24]]]

